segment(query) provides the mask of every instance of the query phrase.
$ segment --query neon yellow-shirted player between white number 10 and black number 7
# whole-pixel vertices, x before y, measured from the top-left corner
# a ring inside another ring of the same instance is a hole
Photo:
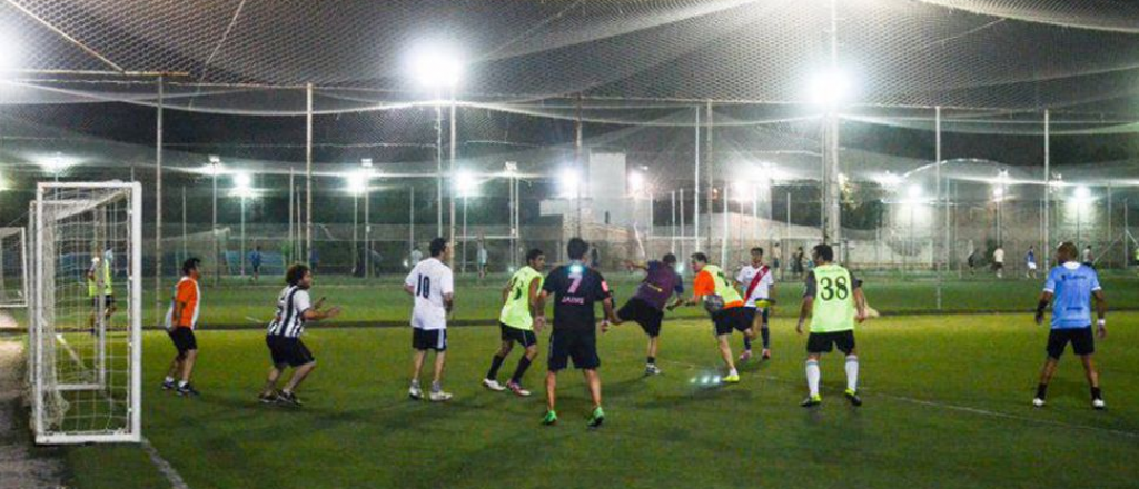
[[[538,356],[538,335],[542,332],[546,316],[538,310],[538,296],[542,293],[542,270],[546,268],[546,255],[540,249],[532,249],[526,252],[526,266],[515,272],[510,281],[502,288],[502,312],[499,314],[499,330],[502,343],[498,353],[491,358],[491,368],[486,371],[483,386],[490,390],[502,391],[510,389],[518,396],[530,396],[530,391],[522,388],[522,376],[530,368],[530,363]],[[538,317],[540,321],[534,321]],[[514,376],[502,387],[498,382],[498,371],[514,349],[515,341],[526,349],[522,358],[518,358],[518,366],[514,370]]]

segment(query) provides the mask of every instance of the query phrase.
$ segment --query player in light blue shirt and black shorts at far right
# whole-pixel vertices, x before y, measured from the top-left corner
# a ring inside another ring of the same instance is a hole
[[[1080,356],[1083,372],[1091,386],[1091,407],[1103,409],[1104,397],[1099,391],[1099,372],[1092,363],[1096,353],[1096,340],[1091,334],[1091,299],[1096,299],[1097,333],[1099,339],[1107,337],[1107,300],[1104,289],[1099,285],[1099,275],[1088,265],[1075,262],[1075,243],[1060,243],[1056,250],[1056,259],[1060,264],[1048,272],[1044,291],[1036,304],[1036,324],[1043,324],[1044,309],[1052,306],[1051,331],[1048,333],[1048,358],[1040,371],[1040,383],[1036,386],[1036,397],[1032,405],[1042,407],[1048,395],[1048,382],[1056,373],[1060,355],[1067,343],[1072,351]]]

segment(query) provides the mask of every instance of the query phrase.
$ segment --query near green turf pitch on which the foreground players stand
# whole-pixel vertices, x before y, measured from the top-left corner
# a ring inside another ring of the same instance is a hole
[[[1031,407],[1047,330],[1026,314],[867,323],[861,408],[841,396],[837,355],[822,360],[822,407],[797,406],[805,338],[793,320],[773,321],[773,359],[714,388],[693,383],[720,366],[706,320],[665,324],[655,378],[641,376],[644,334],[622,325],[599,338],[608,418],[596,431],[574,371],[560,378],[552,428],[539,424],[541,396],[478,384],[497,328],[452,331],[445,386],[456,397],[443,405],[407,398],[407,329],[312,328],[319,366],[302,408],[256,403],[269,364],[260,331],[199,333],[196,399],[159,390],[173,347],[149,332],[144,433],[191,488],[1134,487],[1137,326],[1139,314],[1111,316],[1097,345],[1108,411],[1093,412],[1071,354],[1049,406]],[[526,376],[535,393],[544,354],[538,362]],[[63,453],[80,488],[169,486],[134,446]]]

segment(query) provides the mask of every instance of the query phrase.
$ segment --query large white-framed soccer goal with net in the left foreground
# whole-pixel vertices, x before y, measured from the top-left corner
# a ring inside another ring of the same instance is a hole
[[[32,213],[39,444],[139,441],[141,187],[41,183]]]

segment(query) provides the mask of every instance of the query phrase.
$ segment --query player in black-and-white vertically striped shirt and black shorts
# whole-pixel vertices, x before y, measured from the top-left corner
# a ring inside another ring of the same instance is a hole
[[[309,295],[312,289],[312,270],[306,265],[289,266],[285,272],[285,289],[277,296],[277,313],[265,333],[265,345],[269,347],[273,365],[269,368],[269,378],[265,379],[265,387],[259,398],[264,404],[301,406],[303,403],[296,397],[296,388],[317,367],[317,358],[301,341],[304,325],[312,321],[336,317],[341,314],[341,308],[321,310],[323,298],[312,304],[312,297]],[[277,381],[286,366],[293,367],[293,378],[278,391]]]

